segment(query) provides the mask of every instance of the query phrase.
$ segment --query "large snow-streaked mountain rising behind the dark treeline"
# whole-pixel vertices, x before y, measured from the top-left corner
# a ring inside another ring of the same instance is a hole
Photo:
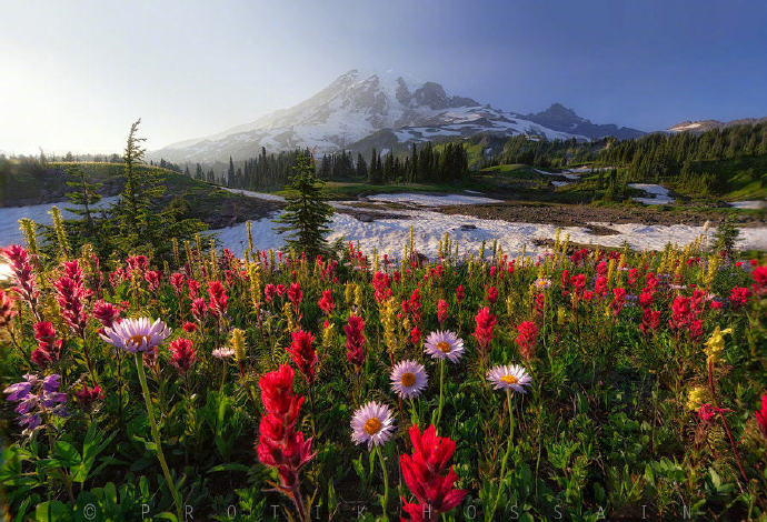
[[[588,120],[585,120],[588,121]],[[590,122],[588,122],[590,123]],[[448,94],[439,84],[402,74],[351,70],[308,100],[225,132],[170,144],[149,155],[170,161],[216,161],[317,147],[319,152],[402,145],[479,132],[588,140],[530,118]],[[385,139],[377,139],[385,138]],[[390,147],[387,147],[390,148]]]

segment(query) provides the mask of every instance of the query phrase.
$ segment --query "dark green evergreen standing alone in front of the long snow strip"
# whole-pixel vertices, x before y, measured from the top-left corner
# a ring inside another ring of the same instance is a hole
[[[330,231],[328,224],[333,210],[322,199],[322,187],[323,182],[316,178],[315,167],[307,155],[298,155],[286,195],[285,213],[275,220],[280,223],[275,230],[286,234],[288,247],[311,257],[328,252],[325,235]]]

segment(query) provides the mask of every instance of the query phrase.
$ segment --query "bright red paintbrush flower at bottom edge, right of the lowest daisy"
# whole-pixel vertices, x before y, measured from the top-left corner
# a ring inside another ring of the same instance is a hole
[[[456,443],[449,438],[437,436],[434,424],[421,434],[418,426],[410,428],[412,455],[399,455],[405,483],[418,503],[408,503],[402,498],[402,509],[410,521],[437,520],[441,513],[456,508],[467,494],[467,490],[456,490],[458,480],[452,466],[442,476],[440,473],[456,451]]]

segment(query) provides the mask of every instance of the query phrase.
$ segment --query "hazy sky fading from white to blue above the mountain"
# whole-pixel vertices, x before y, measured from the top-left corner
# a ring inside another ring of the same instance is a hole
[[[0,152],[119,151],[220,132],[350,69],[641,130],[767,116],[760,1],[4,2]]]

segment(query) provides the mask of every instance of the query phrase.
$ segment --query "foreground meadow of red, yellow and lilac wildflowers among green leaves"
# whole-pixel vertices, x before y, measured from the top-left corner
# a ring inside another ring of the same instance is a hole
[[[767,265],[2,255],[11,520],[767,516]]]

